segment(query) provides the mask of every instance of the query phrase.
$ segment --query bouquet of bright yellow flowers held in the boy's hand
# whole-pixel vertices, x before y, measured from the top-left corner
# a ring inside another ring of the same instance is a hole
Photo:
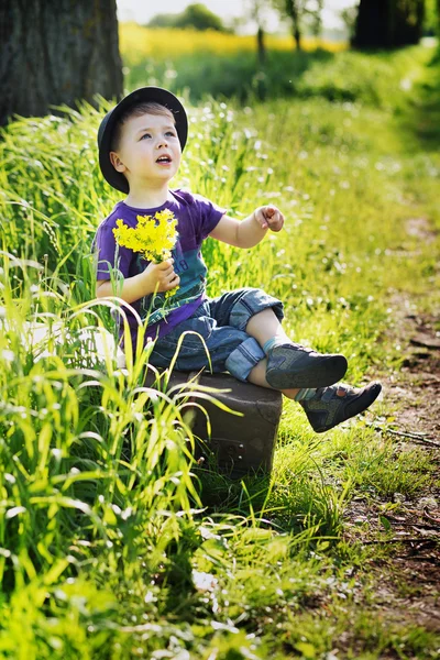
[[[113,234],[119,245],[140,252],[142,256],[155,263],[165,261],[172,255],[177,242],[177,220],[173,211],[164,209],[152,216],[138,216],[138,224],[133,229],[117,220],[118,229]],[[165,293],[165,298],[173,296],[179,287]]]

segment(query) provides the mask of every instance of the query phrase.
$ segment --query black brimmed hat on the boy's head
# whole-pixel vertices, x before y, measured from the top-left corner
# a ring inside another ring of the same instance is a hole
[[[165,108],[168,108],[173,112],[182,151],[185,148],[188,135],[188,119],[184,106],[174,94],[167,89],[162,89],[162,87],[141,87],[129,94],[129,96],[123,98],[118,106],[114,106],[106,114],[98,130],[99,166],[107,183],[117,190],[121,190],[121,193],[128,194],[130,188],[124,175],[121,172],[117,172],[110,161],[110,145],[113,130],[121,114],[131,106],[147,101],[165,106]]]

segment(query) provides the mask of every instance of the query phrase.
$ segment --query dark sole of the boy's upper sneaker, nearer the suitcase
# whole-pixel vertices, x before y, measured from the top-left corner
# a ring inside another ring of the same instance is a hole
[[[266,381],[275,389],[294,389],[301,387],[328,387],[338,383],[348,370],[343,355],[324,358],[300,372],[283,373],[278,369],[267,370]]]

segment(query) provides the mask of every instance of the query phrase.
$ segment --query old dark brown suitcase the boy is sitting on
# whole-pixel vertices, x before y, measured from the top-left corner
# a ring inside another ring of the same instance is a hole
[[[282,394],[242,383],[228,373],[202,373],[197,376],[197,372],[173,372],[168,388],[196,377],[204,386],[230,389],[212,396],[231,410],[242,414],[240,417],[231,415],[211,402],[189,397],[189,400],[202,405],[211,425],[209,437],[206,415],[196,407],[191,430],[201,440],[196,458],[207,459],[213,454],[219,471],[232,479],[257,471],[271,472],[283,408]],[[147,376],[147,384],[152,384],[151,375]]]

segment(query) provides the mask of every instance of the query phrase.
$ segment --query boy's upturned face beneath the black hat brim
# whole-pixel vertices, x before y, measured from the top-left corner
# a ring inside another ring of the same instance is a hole
[[[123,125],[119,148],[110,152],[113,167],[124,174],[130,190],[168,182],[180,165],[182,148],[167,114],[131,117]]]

